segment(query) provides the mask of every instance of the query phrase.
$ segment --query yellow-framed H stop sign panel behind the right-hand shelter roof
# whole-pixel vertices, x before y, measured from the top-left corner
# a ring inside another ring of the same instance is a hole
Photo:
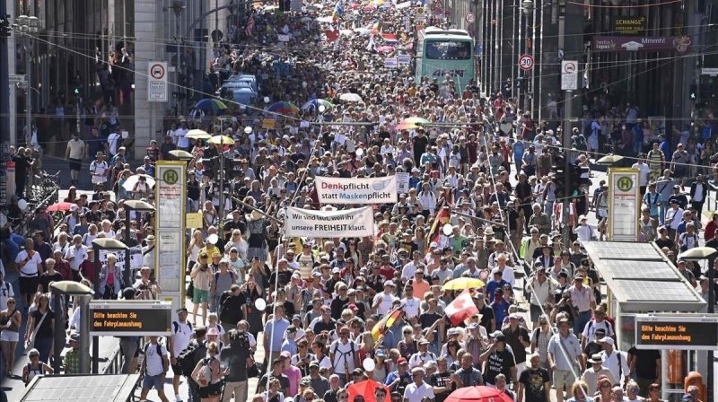
[[[638,241],[641,209],[637,169],[609,169],[609,240]]]

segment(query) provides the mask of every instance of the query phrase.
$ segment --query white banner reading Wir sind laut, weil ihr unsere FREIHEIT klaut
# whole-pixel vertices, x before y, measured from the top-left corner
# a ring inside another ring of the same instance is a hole
[[[374,218],[371,206],[341,211],[316,211],[288,206],[286,235],[336,239],[373,236]]]

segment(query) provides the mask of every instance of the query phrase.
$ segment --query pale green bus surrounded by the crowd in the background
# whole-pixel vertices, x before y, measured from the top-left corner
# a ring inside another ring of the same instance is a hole
[[[427,27],[416,53],[416,83],[423,77],[436,78],[442,83],[447,74],[458,84],[459,93],[476,78],[474,39],[464,30]]]

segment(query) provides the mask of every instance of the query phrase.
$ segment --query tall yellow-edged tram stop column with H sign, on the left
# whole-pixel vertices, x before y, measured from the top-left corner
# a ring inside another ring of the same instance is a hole
[[[185,162],[157,162],[154,267],[162,298],[174,310],[184,305],[185,293]]]

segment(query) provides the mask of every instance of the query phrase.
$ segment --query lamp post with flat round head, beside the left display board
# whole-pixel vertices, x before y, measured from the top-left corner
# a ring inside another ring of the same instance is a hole
[[[52,364],[55,372],[60,372],[60,354],[65,348],[65,327],[58,325],[57,323],[62,322],[63,310],[59,308],[62,302],[62,297],[74,296],[74,302],[80,305],[80,328],[78,333],[80,334],[80,372],[74,372],[73,374],[89,373],[90,372],[90,317],[88,304],[90,302],[90,296],[94,294],[91,288],[74,281],[59,281],[50,284],[50,291],[52,292],[53,301],[55,302],[55,347],[54,351],[54,362]],[[76,304],[75,304],[76,305]]]

